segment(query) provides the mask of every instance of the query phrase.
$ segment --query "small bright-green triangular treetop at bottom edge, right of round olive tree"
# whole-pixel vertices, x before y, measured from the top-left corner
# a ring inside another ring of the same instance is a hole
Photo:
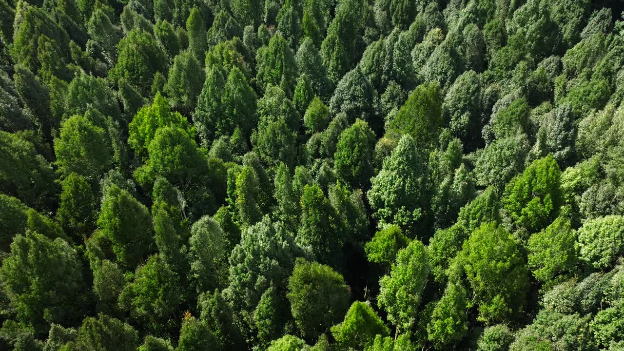
[[[376,335],[387,337],[390,331],[366,302],[353,302],[343,322],[331,327],[336,342],[345,349],[363,350],[373,344]]]

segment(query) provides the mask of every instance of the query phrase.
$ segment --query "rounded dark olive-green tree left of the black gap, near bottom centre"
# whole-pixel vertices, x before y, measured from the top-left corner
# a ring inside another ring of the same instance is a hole
[[[286,296],[301,334],[316,340],[345,314],[350,294],[343,276],[331,267],[299,258]]]

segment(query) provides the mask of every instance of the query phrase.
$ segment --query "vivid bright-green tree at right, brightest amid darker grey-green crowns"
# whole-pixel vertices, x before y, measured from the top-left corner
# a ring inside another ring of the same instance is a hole
[[[547,156],[507,184],[501,202],[514,224],[534,233],[552,222],[561,204],[560,178],[557,162]]]

